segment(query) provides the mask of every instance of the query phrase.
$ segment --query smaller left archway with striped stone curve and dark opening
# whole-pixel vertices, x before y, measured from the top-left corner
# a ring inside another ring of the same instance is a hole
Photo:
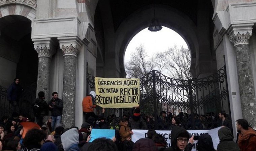
[[[15,77],[20,79],[24,90],[20,112],[30,117],[31,111],[27,107],[36,96],[38,58],[31,40],[31,21],[36,17],[36,10],[32,1],[27,5],[26,2],[0,3],[0,86],[8,88]],[[1,100],[1,106],[8,115],[7,98]]]

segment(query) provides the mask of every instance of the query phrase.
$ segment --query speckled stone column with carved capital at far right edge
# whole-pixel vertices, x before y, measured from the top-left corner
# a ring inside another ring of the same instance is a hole
[[[234,44],[235,48],[243,118],[248,120],[252,125],[255,125],[256,99],[249,47],[249,39],[252,36],[252,26],[253,24],[232,26],[233,29],[229,34],[229,39]]]

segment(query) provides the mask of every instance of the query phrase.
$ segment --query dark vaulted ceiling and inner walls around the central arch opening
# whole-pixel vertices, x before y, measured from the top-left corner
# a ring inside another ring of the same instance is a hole
[[[174,30],[186,41],[191,51],[191,70],[194,70],[194,73],[195,70],[201,72],[200,69],[196,69],[200,68],[197,67],[199,60],[203,60],[204,64],[209,64],[209,60],[212,60],[211,1],[99,0],[94,15],[98,54],[102,55],[98,58],[102,58],[101,62],[106,62],[109,53],[113,53],[111,57],[115,57],[111,59],[116,59],[116,68],[120,70],[122,77],[125,73],[125,49],[139,31],[149,26],[154,8],[155,18],[160,24]]]

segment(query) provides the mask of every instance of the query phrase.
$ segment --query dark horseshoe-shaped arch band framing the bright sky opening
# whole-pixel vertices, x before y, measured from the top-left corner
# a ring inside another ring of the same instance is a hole
[[[199,56],[199,45],[196,37],[196,26],[185,14],[182,12],[171,9],[164,5],[156,5],[155,18],[162,26],[168,27],[177,32],[187,43],[188,48],[191,51],[191,72],[195,73],[195,66],[197,58]],[[134,12],[130,15],[117,30],[117,42],[115,46],[115,53],[119,54],[119,65],[121,72],[124,72],[124,54],[126,47],[131,39],[139,33],[142,29],[149,26],[152,19],[153,7],[141,8],[138,12]],[[195,74],[193,75],[195,77]]]

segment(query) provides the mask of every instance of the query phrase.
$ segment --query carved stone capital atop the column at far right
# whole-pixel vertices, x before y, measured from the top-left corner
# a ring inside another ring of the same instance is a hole
[[[229,29],[229,40],[236,45],[249,45],[253,24],[232,25]]]

